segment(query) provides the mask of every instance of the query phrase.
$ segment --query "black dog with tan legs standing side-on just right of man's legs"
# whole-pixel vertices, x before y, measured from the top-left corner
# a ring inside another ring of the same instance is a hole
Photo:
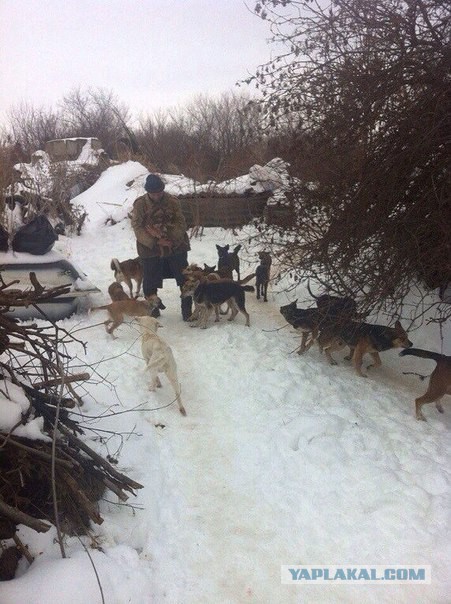
[[[232,312],[228,321],[233,321],[238,311],[246,317],[246,327],[250,325],[249,313],[247,312],[245,302],[245,292],[253,292],[255,288],[252,285],[240,285],[235,281],[223,279],[220,281],[189,281],[182,285],[182,298],[192,296],[196,304],[203,307],[200,318],[193,327],[207,327],[207,321],[213,309],[218,304],[229,302],[232,305]]]

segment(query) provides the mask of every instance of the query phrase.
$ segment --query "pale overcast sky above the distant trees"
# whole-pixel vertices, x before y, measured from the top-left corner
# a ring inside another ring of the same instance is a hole
[[[270,58],[254,0],[0,0],[0,120],[113,91],[134,115],[216,95]],[[251,89],[249,89],[251,91]]]

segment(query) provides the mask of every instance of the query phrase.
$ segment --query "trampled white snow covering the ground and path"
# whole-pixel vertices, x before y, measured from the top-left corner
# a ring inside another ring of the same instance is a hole
[[[136,177],[140,169],[131,164]],[[111,202],[129,190],[130,174],[120,169],[116,178],[110,168],[109,183],[108,171],[103,175]],[[101,289],[97,305],[108,301],[111,258],[136,254],[129,221],[103,226],[105,206],[96,213],[92,189],[82,194],[91,209],[86,230],[56,247]],[[191,240],[189,259],[215,264],[215,245],[238,240],[243,232],[206,229]],[[248,274],[255,253],[243,245],[240,256]],[[103,444],[91,445],[116,456],[118,469],[144,488],[129,505],[107,494],[104,523],[92,527],[101,549],[89,556],[74,537],[62,560],[54,532],[22,528],[36,559],[0,583],[1,604],[101,603],[96,575],[107,604],[449,602],[451,406],[447,397],[442,415],[428,405],[428,422],[416,421],[413,401],[426,382],[403,374],[427,374],[435,364],[389,351],[383,366],[362,379],[344,352],[337,367],[316,347],[293,354],[299,336],[279,307],[307,298],[302,286],[287,294],[283,282],[273,283],[267,303],[247,293],[250,328],[238,315],[233,323],[223,318],[193,329],[181,320],[174,281],[165,282],[161,297],[167,309],[160,333],[178,363],[187,417],[164,378],[162,389],[147,390],[133,324],[122,325],[113,340],[102,311],[61,322],[87,342],[86,355],[73,346],[74,365],[92,368],[78,391],[85,399],[80,419],[120,433],[105,432]],[[430,327],[411,339],[441,351]],[[432,582],[282,585],[281,565],[301,564],[430,565]]]

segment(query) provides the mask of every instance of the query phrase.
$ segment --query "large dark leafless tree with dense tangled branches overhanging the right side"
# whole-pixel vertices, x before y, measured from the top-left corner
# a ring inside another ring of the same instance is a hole
[[[297,123],[315,174],[293,187],[283,261],[369,310],[400,306],[416,283],[451,281],[450,10],[441,0],[255,5],[282,50],[249,81],[268,124]]]

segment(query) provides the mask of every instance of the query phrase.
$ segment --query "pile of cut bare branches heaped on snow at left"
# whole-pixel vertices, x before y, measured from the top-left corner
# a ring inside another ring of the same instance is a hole
[[[17,524],[39,532],[55,525],[64,556],[64,534],[89,534],[90,522],[103,522],[98,502],[107,489],[126,501],[127,493],[142,488],[89,447],[83,429],[70,416],[70,409],[83,403],[74,382],[90,377],[71,373],[67,344],[77,340],[57,324],[21,325],[8,315],[11,307],[39,308],[69,291],[69,286],[46,290],[33,273],[30,281],[32,289],[14,290],[16,283],[5,283],[0,275],[0,394],[8,399],[12,383],[29,401],[17,425],[0,431],[0,539],[15,541],[0,557],[0,579],[14,576],[14,560],[21,554],[32,561],[16,536]],[[15,434],[36,417],[43,418],[42,440]]]

